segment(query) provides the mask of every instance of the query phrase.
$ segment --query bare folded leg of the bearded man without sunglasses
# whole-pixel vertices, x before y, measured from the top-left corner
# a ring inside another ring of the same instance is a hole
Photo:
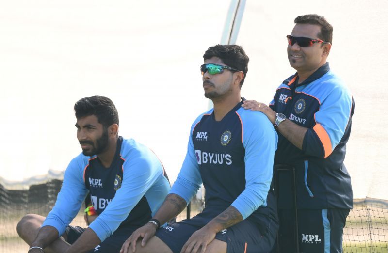
[[[22,238],[28,245],[35,240],[38,235],[39,229],[43,224],[45,217],[37,214],[27,214],[24,216],[19,223],[17,223],[16,230],[20,238]],[[62,253],[65,252],[69,247],[65,241],[66,234],[59,237],[52,242],[48,247],[45,248],[46,253]]]

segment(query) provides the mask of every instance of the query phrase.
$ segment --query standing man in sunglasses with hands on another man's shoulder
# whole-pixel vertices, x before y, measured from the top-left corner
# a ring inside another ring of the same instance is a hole
[[[300,252],[342,252],[346,217],[353,208],[350,176],[343,164],[354,101],[326,62],[333,27],[323,16],[295,19],[288,40],[288,59],[296,69],[276,90],[268,107],[245,101],[262,111],[279,133],[275,165],[295,168],[298,244]],[[292,176],[279,172],[279,252],[295,252]]]

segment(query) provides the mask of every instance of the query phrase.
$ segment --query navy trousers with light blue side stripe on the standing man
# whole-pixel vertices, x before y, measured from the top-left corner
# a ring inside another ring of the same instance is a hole
[[[343,228],[349,211],[349,209],[298,210],[299,252],[341,253]],[[295,221],[292,212],[279,210],[280,253],[296,252]]]

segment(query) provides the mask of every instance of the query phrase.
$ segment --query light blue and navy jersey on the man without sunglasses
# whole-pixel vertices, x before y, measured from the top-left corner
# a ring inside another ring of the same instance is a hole
[[[103,241],[119,226],[140,227],[148,222],[169,190],[156,155],[146,146],[120,136],[109,168],[97,156],[82,153],[70,162],[55,206],[42,226],[54,226],[62,235],[90,191],[99,216],[89,227]]]

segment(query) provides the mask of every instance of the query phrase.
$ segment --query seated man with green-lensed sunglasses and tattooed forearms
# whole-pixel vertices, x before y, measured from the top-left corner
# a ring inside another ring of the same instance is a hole
[[[214,108],[194,121],[186,158],[155,224],[136,230],[121,253],[268,253],[275,242],[270,185],[277,135],[263,113],[241,107],[249,58],[237,45],[210,47],[203,58],[202,85]],[[190,203],[201,183],[205,209],[159,228]]]

